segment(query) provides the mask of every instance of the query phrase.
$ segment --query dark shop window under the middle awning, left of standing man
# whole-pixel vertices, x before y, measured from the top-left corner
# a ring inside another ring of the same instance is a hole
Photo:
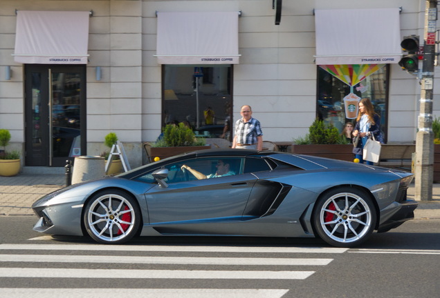
[[[162,126],[187,121],[198,135],[221,137],[231,117],[231,74],[230,65],[163,66]]]

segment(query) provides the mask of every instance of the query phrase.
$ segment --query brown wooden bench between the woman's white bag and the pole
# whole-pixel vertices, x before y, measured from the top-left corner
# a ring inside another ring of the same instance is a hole
[[[414,152],[416,152],[415,144],[382,144],[381,157],[376,165],[385,168],[404,168],[405,170],[411,170],[412,153]]]

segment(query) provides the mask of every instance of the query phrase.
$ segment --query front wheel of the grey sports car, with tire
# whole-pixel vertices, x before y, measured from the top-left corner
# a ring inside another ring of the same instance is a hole
[[[121,190],[104,190],[87,202],[83,222],[95,241],[122,244],[136,235],[140,217],[138,204],[131,195]]]

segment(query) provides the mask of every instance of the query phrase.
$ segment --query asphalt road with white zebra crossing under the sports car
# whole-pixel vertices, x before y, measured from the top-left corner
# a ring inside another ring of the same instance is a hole
[[[358,248],[317,239],[139,237],[102,246],[0,217],[1,297],[438,297],[440,219]],[[2,296],[5,295],[5,296]]]

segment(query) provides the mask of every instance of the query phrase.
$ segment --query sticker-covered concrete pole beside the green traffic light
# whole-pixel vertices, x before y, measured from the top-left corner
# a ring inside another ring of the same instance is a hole
[[[434,173],[434,133],[432,132],[432,99],[434,90],[434,61],[437,31],[437,0],[425,1],[425,32],[423,43],[423,68],[419,130],[416,134],[415,199],[432,200]]]

